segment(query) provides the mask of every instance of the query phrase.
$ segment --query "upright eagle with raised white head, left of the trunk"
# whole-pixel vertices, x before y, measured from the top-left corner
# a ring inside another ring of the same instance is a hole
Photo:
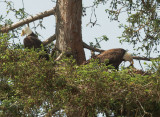
[[[25,27],[22,30],[21,36],[25,36],[23,40],[24,47],[31,49],[41,49],[42,48],[42,41],[38,39],[38,36],[32,32],[32,30],[29,27]],[[47,54],[47,50],[44,49],[46,54],[40,55],[39,58],[45,58],[46,60],[49,60],[49,55]]]

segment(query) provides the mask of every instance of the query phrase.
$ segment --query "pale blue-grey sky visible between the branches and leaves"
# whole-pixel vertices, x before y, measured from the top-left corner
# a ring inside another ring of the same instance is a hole
[[[40,12],[44,12],[46,10],[49,10],[55,6],[54,2],[51,2],[51,0],[11,0],[14,2],[15,8],[23,8],[22,1],[24,2],[24,8],[25,11],[31,15],[36,15]],[[94,0],[83,0],[83,6],[91,6],[93,5]],[[103,35],[106,35],[109,38],[109,41],[102,42],[101,48],[104,50],[112,49],[112,48],[124,48],[127,49],[129,53],[136,53],[133,49],[132,45],[129,45],[127,43],[120,44],[119,39],[117,37],[121,36],[123,29],[119,29],[119,22],[116,21],[110,21],[108,19],[108,14],[105,12],[105,9],[108,8],[109,5],[99,5],[96,8],[96,16],[97,16],[97,24],[94,27],[91,27],[91,25],[87,24],[90,22],[91,12],[92,8],[88,8],[86,10],[86,16],[82,17],[82,39],[84,42],[89,44],[89,42],[95,42],[95,38],[101,37]],[[2,2],[0,2],[0,15],[5,13],[5,6]],[[14,16],[10,16],[10,18],[16,23],[18,20],[14,18]],[[92,20],[94,21],[95,18],[93,17]],[[126,21],[126,16],[121,15],[120,21],[124,22]],[[34,23],[30,23],[30,27],[32,28],[34,24],[37,24],[37,21]],[[38,28],[36,31],[42,35],[42,37],[39,37],[42,41],[47,39],[48,37],[52,36],[55,33],[55,17],[49,16],[43,19],[43,25],[46,27],[46,29]],[[34,30],[33,30],[34,31]],[[23,43],[23,38],[20,37],[21,43]],[[16,41],[16,40],[15,40]],[[86,58],[90,58],[90,51],[85,49]],[[129,62],[125,62],[125,65],[129,65]],[[139,62],[134,60],[135,67],[140,69]],[[142,61],[143,64],[143,61]]]

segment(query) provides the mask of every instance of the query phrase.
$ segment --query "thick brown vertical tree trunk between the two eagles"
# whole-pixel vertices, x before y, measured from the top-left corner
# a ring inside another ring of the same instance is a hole
[[[81,31],[82,0],[57,0],[56,46],[63,53],[72,53],[77,64],[82,64],[85,53]]]

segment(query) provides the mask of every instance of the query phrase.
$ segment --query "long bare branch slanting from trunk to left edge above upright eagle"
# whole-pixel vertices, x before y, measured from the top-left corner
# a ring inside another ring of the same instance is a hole
[[[5,32],[8,32],[9,30],[13,30],[13,29],[15,29],[15,28],[17,28],[19,26],[24,25],[24,24],[28,24],[28,23],[33,22],[35,20],[42,19],[42,18],[48,17],[50,15],[54,15],[55,11],[56,11],[55,8],[53,8],[51,10],[39,13],[39,14],[37,14],[35,16],[31,16],[31,17],[29,17],[27,19],[23,19],[23,20],[21,20],[21,21],[19,21],[17,23],[12,24],[12,25],[4,26],[4,27],[1,28],[0,32],[5,33]]]

